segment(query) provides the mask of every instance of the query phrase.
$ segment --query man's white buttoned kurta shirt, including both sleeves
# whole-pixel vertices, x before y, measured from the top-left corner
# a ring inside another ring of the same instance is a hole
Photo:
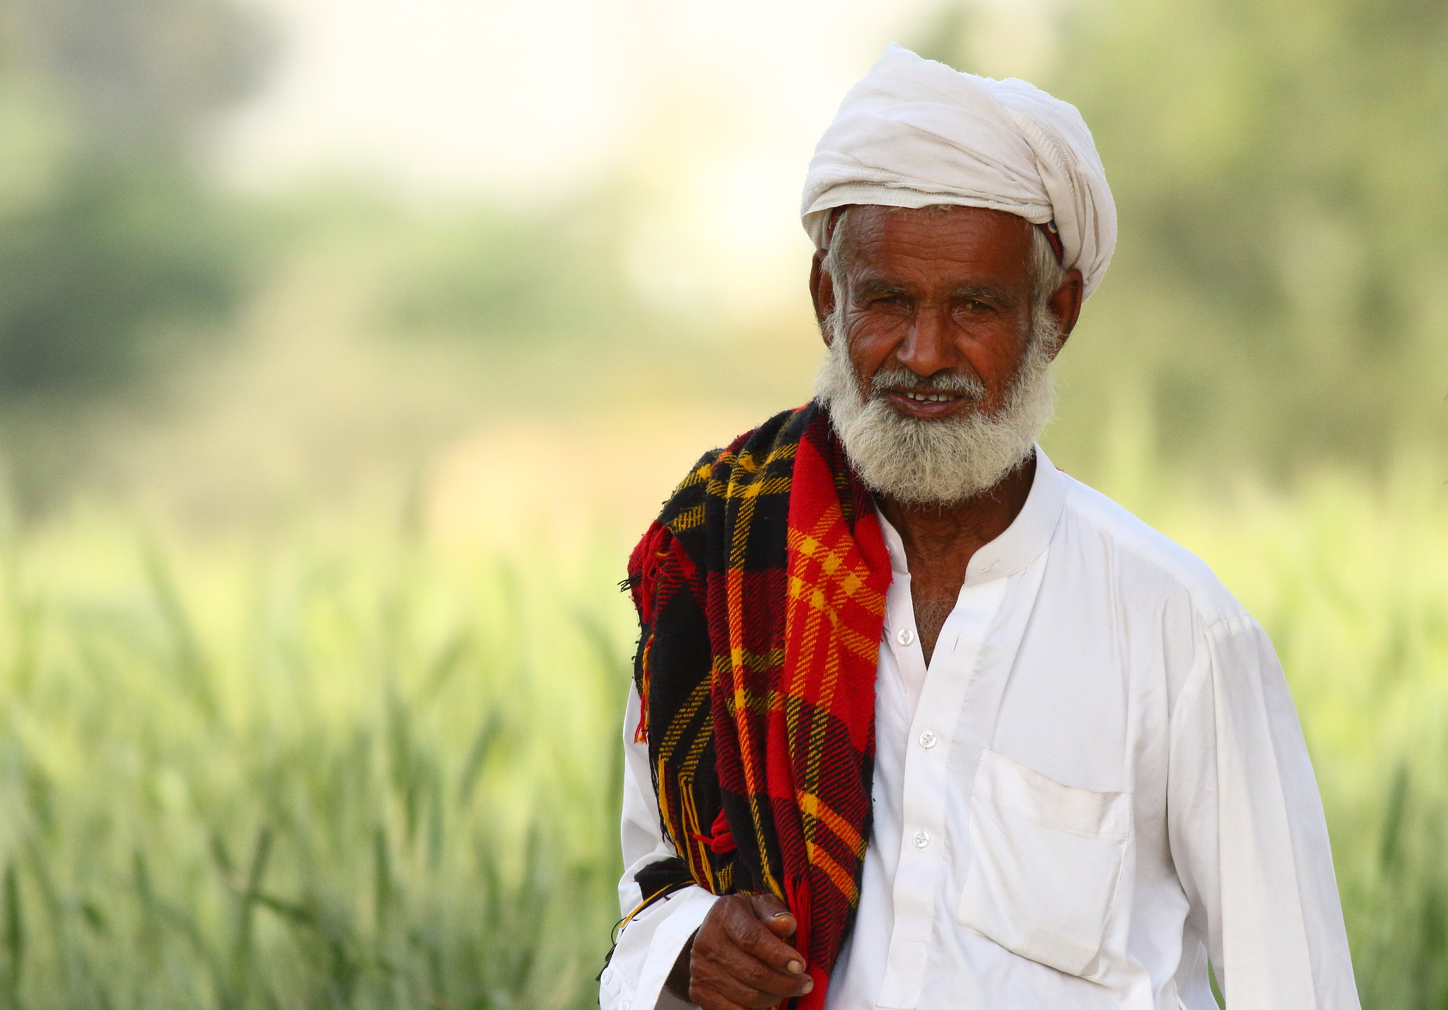
[[[1037,449],[927,667],[899,535],[875,700],[875,825],[828,1010],[1358,1006],[1322,803],[1261,627],[1195,556]],[[624,719],[623,914],[673,855]],[[602,1010],[663,990],[714,896],[637,914]]]

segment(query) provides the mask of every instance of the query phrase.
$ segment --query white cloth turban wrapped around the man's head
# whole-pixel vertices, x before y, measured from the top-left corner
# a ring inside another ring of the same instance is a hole
[[[809,161],[801,216],[828,245],[846,204],[989,207],[1056,221],[1090,295],[1116,246],[1116,204],[1074,106],[1018,81],[959,74],[891,45],[850,88]]]

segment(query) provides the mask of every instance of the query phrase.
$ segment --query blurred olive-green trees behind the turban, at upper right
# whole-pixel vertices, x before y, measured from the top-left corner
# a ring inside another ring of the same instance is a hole
[[[972,4],[924,48],[970,69]],[[1080,107],[1121,211],[1053,440],[1102,418],[1286,475],[1448,444],[1448,4],[1079,0],[1037,82]]]

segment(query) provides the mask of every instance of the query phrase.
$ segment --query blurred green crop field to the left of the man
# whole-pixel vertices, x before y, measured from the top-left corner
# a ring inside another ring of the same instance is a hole
[[[0,1006],[594,1006],[613,564],[52,532],[0,544]]]

